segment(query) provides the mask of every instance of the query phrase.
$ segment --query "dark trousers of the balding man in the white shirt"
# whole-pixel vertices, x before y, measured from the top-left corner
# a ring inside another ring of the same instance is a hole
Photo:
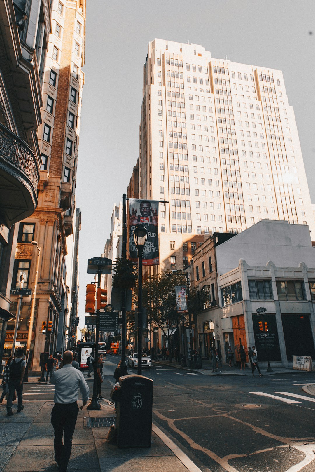
[[[55,430],[55,460],[59,465],[59,472],[66,472],[78,413],[79,408],[76,402],[69,404],[56,403],[51,411],[51,424]],[[64,436],[63,444],[62,436]]]

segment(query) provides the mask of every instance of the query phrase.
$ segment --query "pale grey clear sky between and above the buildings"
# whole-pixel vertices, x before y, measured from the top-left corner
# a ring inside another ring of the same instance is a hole
[[[314,0],[87,0],[76,185],[82,210],[79,315],[92,280],[87,260],[103,252],[114,205],[122,200],[138,158],[149,41],[189,41],[217,59],[226,55],[282,70],[315,202],[314,18]]]

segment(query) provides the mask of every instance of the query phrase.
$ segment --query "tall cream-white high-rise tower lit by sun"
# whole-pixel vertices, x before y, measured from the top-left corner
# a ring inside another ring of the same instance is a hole
[[[175,249],[160,244],[165,263],[193,235],[240,232],[260,219],[308,224],[315,238],[282,72],[214,59],[198,44],[150,42],[140,198],[169,202],[160,205],[160,243]]]

